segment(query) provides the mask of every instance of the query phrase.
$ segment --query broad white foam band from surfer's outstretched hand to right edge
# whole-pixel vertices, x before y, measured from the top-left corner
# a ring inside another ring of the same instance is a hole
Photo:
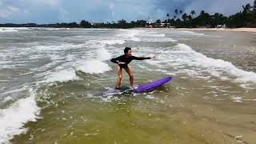
[[[148,52],[154,53],[155,50]],[[174,69],[172,73],[175,74],[186,73],[198,78],[213,76],[238,83],[244,88],[253,88],[256,84],[254,72],[239,69],[231,62],[222,59],[208,58],[185,44],[178,43],[174,47],[159,49],[158,54],[162,56],[146,62],[157,66],[161,71],[165,71],[164,67],[171,66]]]

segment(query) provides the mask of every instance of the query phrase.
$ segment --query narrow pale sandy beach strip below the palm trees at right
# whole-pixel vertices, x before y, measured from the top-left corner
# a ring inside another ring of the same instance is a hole
[[[252,32],[256,33],[256,28],[153,28],[154,30],[186,30],[186,31],[234,31],[234,32]]]

